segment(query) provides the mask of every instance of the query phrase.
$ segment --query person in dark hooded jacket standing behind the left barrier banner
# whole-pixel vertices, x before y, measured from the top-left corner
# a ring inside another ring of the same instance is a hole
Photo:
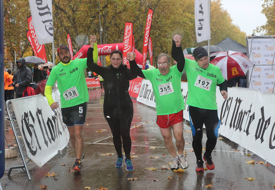
[[[13,83],[15,84],[16,98],[23,97],[23,92],[30,85],[32,79],[32,72],[26,66],[26,61],[24,58],[19,58],[16,61],[18,70],[13,75]]]

